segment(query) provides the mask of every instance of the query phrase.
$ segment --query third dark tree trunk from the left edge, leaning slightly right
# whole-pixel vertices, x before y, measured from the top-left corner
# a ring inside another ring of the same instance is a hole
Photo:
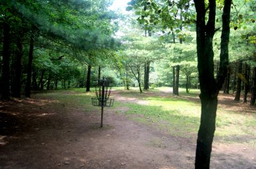
[[[25,87],[25,96],[30,98],[31,91],[31,73],[32,73],[32,62],[33,62],[33,50],[34,50],[35,33],[32,32],[30,36],[29,55],[28,55],[28,73]]]

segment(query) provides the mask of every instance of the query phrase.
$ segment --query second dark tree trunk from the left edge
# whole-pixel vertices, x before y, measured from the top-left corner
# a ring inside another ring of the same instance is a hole
[[[23,55],[23,45],[22,45],[22,34],[17,36],[17,51],[15,59],[15,79],[13,85],[13,97],[20,98],[21,91],[21,68],[22,68],[22,55]]]

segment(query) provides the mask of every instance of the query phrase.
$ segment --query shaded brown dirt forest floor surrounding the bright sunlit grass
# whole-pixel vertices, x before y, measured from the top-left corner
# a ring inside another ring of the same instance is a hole
[[[113,91],[116,105],[105,108],[104,128],[99,128],[100,108],[91,106],[93,95],[68,90],[0,101],[0,169],[194,168],[196,136],[172,135],[125,114],[125,103],[148,105],[147,99]],[[173,97],[166,91],[143,97],[152,95]],[[189,95],[180,98],[199,102]],[[255,107],[232,99],[220,94],[219,108],[247,111],[256,119]],[[254,144],[214,140],[211,168],[256,169],[255,152]]]

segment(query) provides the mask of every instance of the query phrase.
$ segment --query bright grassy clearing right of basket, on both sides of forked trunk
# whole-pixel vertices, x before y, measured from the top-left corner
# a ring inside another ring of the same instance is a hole
[[[180,97],[159,96],[158,91],[170,91],[170,88],[154,89],[156,95],[150,94],[150,96],[147,92],[144,94],[136,94],[134,91],[122,92],[122,95],[143,99],[148,103],[148,105],[122,103],[123,106],[129,107],[126,114],[134,121],[157,126],[171,135],[195,138],[200,125],[200,102],[184,96],[198,98],[199,91],[193,90],[191,94],[186,94],[186,91],[181,89]],[[248,114],[219,107],[216,119],[216,142],[250,143],[256,146],[255,112]]]

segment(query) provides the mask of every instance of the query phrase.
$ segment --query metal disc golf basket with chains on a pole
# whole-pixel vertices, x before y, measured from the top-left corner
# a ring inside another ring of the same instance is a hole
[[[109,98],[111,93],[111,82],[105,78],[93,80],[95,82],[96,98],[92,98],[92,105],[95,107],[101,107],[101,121],[100,128],[103,126],[103,112],[104,107],[113,107],[114,99]]]

